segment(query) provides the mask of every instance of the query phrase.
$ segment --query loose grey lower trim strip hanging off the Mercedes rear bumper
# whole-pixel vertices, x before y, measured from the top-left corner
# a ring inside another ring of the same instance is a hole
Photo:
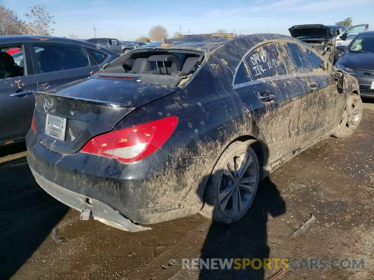
[[[30,168],[33,173],[36,182],[45,190],[50,196],[57,199],[59,202],[73,208],[77,211],[82,211],[83,209],[89,209],[90,216],[95,220],[98,220],[104,224],[110,225],[112,227],[119,228],[125,231],[142,231],[150,230],[150,227],[143,227],[141,225],[132,223],[131,220],[127,219],[121,215],[118,211],[111,208],[109,205],[102,203],[96,199],[90,199],[79,193],[72,192],[70,190],[64,189],[57,184],[48,181],[46,178],[38,174],[34,169]]]

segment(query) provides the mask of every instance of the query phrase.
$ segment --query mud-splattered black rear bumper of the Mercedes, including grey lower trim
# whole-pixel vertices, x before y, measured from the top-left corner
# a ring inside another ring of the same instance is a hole
[[[40,186],[78,211],[84,209],[85,199],[92,199],[99,207],[92,211],[97,219],[131,229],[138,223],[154,224],[196,214],[202,207],[197,192],[201,176],[194,178],[193,185],[187,185],[185,179],[186,168],[201,169],[194,160],[177,159],[175,163],[162,150],[136,164],[82,152],[62,155],[40,144],[32,130],[26,144],[28,164]],[[102,214],[104,209],[109,216]]]

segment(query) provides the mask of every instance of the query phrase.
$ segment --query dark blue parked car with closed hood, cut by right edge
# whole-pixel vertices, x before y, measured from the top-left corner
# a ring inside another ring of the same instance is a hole
[[[335,66],[358,80],[360,94],[374,98],[374,31],[361,32],[346,46]]]

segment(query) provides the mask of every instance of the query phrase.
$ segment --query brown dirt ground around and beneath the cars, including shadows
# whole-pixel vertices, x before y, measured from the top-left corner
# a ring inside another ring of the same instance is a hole
[[[0,279],[269,279],[274,270],[181,270],[181,258],[364,258],[364,270],[286,270],[279,279],[374,279],[374,103],[356,133],[328,138],[260,183],[251,211],[222,227],[200,215],[127,233],[34,181],[25,146],[0,150]],[[371,102],[371,103],[370,103]],[[313,214],[316,222],[291,234]],[[56,227],[65,240],[51,238]]]

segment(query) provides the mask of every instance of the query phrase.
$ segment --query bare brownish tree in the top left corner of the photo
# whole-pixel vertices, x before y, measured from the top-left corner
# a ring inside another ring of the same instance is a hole
[[[26,23],[12,10],[0,5],[0,35],[25,34]]]

